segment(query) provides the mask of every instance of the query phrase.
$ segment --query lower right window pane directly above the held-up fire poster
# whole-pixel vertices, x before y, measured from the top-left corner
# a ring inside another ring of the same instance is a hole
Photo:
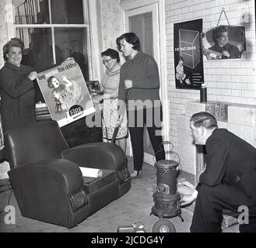
[[[89,80],[86,29],[62,28],[54,29],[56,52],[65,60],[67,57],[74,57],[79,64],[83,77]]]

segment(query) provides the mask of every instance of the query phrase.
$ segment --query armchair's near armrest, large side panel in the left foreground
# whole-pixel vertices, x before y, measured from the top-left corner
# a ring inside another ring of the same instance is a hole
[[[89,207],[82,173],[72,161],[40,160],[8,174],[24,217],[68,228],[86,219]]]

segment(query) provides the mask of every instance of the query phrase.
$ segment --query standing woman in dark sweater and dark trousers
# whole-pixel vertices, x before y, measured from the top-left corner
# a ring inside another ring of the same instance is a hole
[[[124,100],[128,110],[128,128],[132,141],[134,171],[132,177],[142,177],[143,135],[146,126],[156,160],[164,160],[160,150],[162,138],[162,105],[160,102],[160,75],[156,60],[140,51],[135,33],[124,33],[117,38],[117,47],[128,60],[121,66],[118,98]],[[122,106],[119,109],[123,109]]]

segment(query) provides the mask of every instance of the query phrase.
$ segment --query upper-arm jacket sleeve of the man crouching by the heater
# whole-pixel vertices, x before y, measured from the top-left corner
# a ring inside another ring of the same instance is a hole
[[[230,153],[230,143],[221,137],[209,137],[206,143],[207,162],[205,171],[199,177],[200,184],[214,187],[221,184],[226,172],[226,161]]]

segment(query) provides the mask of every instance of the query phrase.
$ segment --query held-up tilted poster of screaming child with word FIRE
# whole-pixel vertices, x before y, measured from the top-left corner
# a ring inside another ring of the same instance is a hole
[[[86,81],[75,60],[40,72],[37,82],[51,119],[57,121],[58,126],[65,126],[95,112]]]

